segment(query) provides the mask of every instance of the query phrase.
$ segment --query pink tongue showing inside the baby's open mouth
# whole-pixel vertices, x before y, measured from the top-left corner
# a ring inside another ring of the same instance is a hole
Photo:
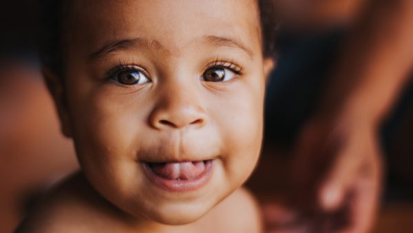
[[[183,162],[183,163],[151,163],[151,168],[155,174],[165,179],[189,180],[200,176],[204,172],[204,162]]]

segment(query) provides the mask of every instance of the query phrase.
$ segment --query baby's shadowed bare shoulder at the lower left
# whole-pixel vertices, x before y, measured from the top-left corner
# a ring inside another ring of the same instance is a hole
[[[16,233],[108,232],[116,210],[75,174],[57,185],[19,225]],[[113,223],[113,224],[111,224]]]

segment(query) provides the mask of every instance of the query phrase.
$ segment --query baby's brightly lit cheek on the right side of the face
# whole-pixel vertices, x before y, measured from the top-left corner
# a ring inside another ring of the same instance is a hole
[[[241,185],[251,174],[260,154],[263,130],[264,81],[240,83],[226,92],[213,118],[222,135],[226,177]],[[232,182],[231,182],[232,181]]]

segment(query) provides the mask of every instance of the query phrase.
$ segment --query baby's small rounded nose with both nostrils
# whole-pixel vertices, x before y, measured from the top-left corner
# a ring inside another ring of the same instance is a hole
[[[157,130],[168,130],[202,128],[207,118],[196,90],[169,86],[161,92],[149,121]]]

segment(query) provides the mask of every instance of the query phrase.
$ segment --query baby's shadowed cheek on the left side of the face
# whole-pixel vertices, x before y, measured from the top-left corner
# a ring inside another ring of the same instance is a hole
[[[105,88],[80,88],[70,96],[78,159],[96,189],[123,192],[131,187],[124,178],[136,174],[136,135],[145,127],[142,119],[147,106],[130,101],[139,97],[125,98]],[[110,188],[111,184],[116,188]]]

